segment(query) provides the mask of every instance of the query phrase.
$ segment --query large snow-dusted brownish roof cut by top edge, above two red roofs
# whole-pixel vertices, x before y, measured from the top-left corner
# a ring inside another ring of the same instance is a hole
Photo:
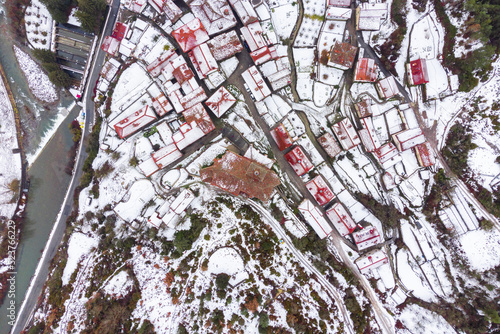
[[[189,2],[189,7],[209,35],[228,30],[237,23],[226,0],[193,0]]]

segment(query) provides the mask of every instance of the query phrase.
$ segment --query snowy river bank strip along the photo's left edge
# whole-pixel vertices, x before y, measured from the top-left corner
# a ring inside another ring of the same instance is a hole
[[[21,155],[12,153],[19,146],[14,110],[3,80],[0,80],[0,119],[0,217],[11,218],[16,203],[10,203],[14,194],[8,188],[13,180],[21,180]]]

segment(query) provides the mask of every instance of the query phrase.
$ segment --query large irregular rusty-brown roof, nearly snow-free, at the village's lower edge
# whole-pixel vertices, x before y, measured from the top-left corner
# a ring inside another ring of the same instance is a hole
[[[216,159],[210,167],[200,170],[203,182],[210,183],[231,194],[246,194],[250,198],[268,201],[274,187],[280,184],[278,175],[264,165],[231,151]]]

